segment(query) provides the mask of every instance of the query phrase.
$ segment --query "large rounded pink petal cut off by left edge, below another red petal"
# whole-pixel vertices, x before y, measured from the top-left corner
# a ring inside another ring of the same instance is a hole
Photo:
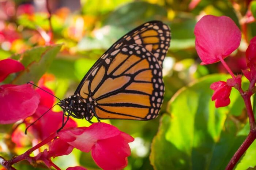
[[[39,94],[29,84],[0,86],[0,124],[31,116],[38,107]]]

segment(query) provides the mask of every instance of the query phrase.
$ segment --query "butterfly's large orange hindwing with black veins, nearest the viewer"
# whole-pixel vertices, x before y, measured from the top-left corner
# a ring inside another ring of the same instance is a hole
[[[149,120],[163,102],[162,68],[140,45],[124,45],[106,53],[88,76],[79,94],[92,97],[101,119]],[[90,100],[90,99],[89,99]]]

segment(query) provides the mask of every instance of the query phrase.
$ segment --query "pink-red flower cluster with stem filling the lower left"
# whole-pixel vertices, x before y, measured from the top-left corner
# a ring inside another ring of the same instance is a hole
[[[16,60],[5,59],[0,61],[0,82],[4,81],[11,73],[22,71],[24,66]],[[39,86],[53,94],[53,91],[44,86],[44,79],[39,81]],[[94,123],[89,127],[77,127],[71,118],[65,127],[57,133],[62,126],[63,112],[54,112],[53,95],[41,89],[34,90],[30,84],[14,85],[3,84],[0,86],[0,124],[11,124],[19,120],[28,126],[37,120],[29,133],[41,141],[24,154],[9,161],[2,159],[1,164],[12,166],[20,160],[28,160],[32,165],[44,162],[46,166],[57,167],[52,158],[68,155],[74,148],[82,152],[91,152],[95,163],[104,170],[120,170],[127,166],[127,157],[131,154],[128,143],[134,139],[130,135],[119,131],[116,127],[106,123]],[[67,119],[65,117],[65,119]],[[64,119],[64,121],[65,121]],[[24,145],[24,133],[16,128],[11,140],[18,147]],[[49,148],[39,152],[35,157],[30,154],[41,146],[48,144]],[[67,170],[86,170],[84,167],[69,167]]]

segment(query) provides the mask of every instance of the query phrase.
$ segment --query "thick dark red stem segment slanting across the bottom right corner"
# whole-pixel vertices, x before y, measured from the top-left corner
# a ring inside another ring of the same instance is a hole
[[[255,138],[256,138],[256,131],[250,131],[244,143],[242,143],[240,148],[236,151],[232,159],[229,161],[229,164],[226,166],[225,170],[232,170],[235,167],[238,160],[242,157],[242,155],[249,148],[249,146],[251,146]]]

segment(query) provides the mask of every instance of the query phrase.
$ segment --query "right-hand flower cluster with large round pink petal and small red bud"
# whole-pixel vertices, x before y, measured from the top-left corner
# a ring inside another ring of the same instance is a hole
[[[230,103],[232,87],[243,94],[241,88],[241,75],[235,76],[223,60],[238,48],[241,41],[241,32],[236,24],[227,16],[206,15],[197,22],[194,30],[196,36],[196,51],[202,60],[201,64],[212,64],[221,61],[232,76],[226,82],[219,81],[211,84],[214,90],[212,101],[216,107],[227,106]],[[242,70],[244,76],[250,81],[253,88],[256,82],[256,37],[252,38],[246,52],[247,68]],[[252,91],[249,89],[249,92]]]

